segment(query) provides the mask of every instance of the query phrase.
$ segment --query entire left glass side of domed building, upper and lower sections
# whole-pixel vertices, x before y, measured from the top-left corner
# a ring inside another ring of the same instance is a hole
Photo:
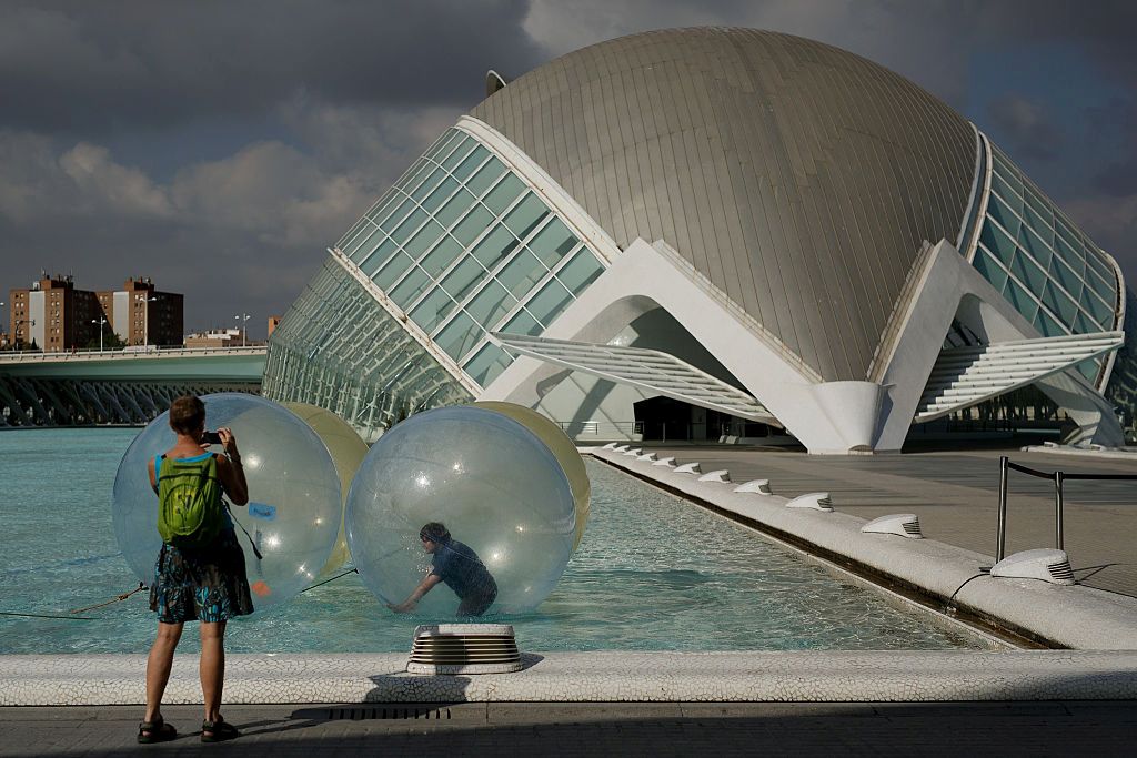
[[[541,333],[604,270],[521,176],[457,128],[335,247],[347,268],[329,258],[281,322],[264,393],[329,408],[360,430],[473,400],[470,388],[514,360],[489,332]]]

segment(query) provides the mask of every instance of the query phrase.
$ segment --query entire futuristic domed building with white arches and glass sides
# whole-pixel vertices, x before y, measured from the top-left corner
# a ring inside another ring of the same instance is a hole
[[[849,453],[1034,385],[1068,441],[1120,444],[1134,306],[919,86],[800,38],[673,30],[490,72],[329,250],[263,389],[372,435],[501,399],[580,438],[678,413]]]

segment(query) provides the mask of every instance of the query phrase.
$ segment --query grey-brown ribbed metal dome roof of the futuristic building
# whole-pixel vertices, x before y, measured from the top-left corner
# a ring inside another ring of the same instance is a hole
[[[824,380],[864,380],[922,242],[955,243],[972,126],[850,52],[744,28],[553,60],[471,111],[626,247],[663,240]]]

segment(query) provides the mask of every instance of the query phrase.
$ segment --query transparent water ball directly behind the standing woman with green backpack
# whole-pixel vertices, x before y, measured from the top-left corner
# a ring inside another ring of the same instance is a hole
[[[254,606],[266,610],[310,584],[327,561],[340,527],[335,465],[316,433],[275,402],[232,392],[201,400],[206,428],[230,427],[241,451],[249,505],[230,510],[244,551]],[[147,583],[153,581],[161,549],[158,498],[150,489],[147,461],[166,452],[175,440],[166,411],[134,439],[115,476],[115,538],[131,569]],[[210,450],[221,452],[221,447]]]

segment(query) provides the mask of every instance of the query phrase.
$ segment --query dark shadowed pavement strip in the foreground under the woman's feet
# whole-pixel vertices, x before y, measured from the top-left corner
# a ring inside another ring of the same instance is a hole
[[[139,745],[140,710],[0,708],[0,756],[1126,756],[1137,733],[1128,701],[313,705],[230,706],[243,735],[201,744],[200,708],[171,706],[183,734]]]

